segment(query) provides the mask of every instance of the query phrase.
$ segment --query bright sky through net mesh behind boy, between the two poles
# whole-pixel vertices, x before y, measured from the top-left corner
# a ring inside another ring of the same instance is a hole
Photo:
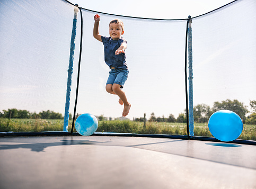
[[[94,14],[83,11],[86,26],[83,28],[83,61],[77,111],[98,112],[117,118],[122,115],[123,107],[119,105],[116,95],[105,92],[109,67],[104,62],[102,43],[92,36]],[[131,70],[123,88],[133,106],[128,117],[133,119],[153,112],[166,117],[171,112],[183,112],[186,108],[184,49],[187,21],[151,21],[152,24],[148,24],[143,19],[102,15],[101,35],[109,35],[109,22],[116,17],[125,23],[123,37],[127,40],[126,57],[128,69]],[[168,34],[162,31],[168,31]],[[176,44],[177,48],[170,51],[172,44]],[[92,98],[95,101],[88,101]]]

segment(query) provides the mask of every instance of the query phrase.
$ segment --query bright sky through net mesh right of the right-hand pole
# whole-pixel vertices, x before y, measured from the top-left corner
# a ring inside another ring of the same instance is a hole
[[[255,2],[237,1],[193,19],[195,105],[237,100],[251,111],[250,100],[256,98],[255,10]]]

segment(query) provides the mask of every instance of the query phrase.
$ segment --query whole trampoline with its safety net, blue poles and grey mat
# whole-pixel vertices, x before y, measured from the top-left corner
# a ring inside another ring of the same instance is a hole
[[[61,0],[0,4],[1,108],[65,111],[63,132],[0,132],[0,188],[256,188],[256,141],[194,136],[194,119],[205,123],[210,111],[199,119],[193,109],[214,103],[217,109],[226,99],[248,107],[255,100],[255,1],[174,20],[101,13]],[[173,113],[186,122],[185,135],[73,132],[71,113],[111,118],[122,110],[104,91],[108,68],[92,37],[94,14],[101,14],[102,34],[111,19],[125,23],[130,118],[154,112],[164,120]],[[167,34],[154,38],[159,28]]]

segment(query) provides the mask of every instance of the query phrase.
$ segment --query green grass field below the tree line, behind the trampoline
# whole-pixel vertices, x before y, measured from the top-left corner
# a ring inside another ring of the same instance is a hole
[[[64,120],[43,119],[0,119],[1,132],[40,132],[40,131],[63,131]],[[134,121],[99,121],[96,132],[120,132],[138,134],[181,134],[187,135],[186,123],[158,123]],[[69,121],[68,131],[71,131],[72,121]],[[213,137],[208,129],[208,123],[195,123],[195,136]],[[239,139],[256,140],[256,125],[243,125],[243,132]]]

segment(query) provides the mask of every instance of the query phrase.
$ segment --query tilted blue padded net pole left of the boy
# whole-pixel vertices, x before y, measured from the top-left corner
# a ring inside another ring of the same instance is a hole
[[[75,51],[75,38],[76,38],[76,22],[77,22],[78,5],[74,8],[74,19],[73,28],[70,41],[70,55],[69,55],[69,65],[68,65],[68,78],[67,78],[67,93],[66,93],[66,104],[65,104],[65,114],[64,114],[64,125],[63,131],[68,130],[68,119],[69,119],[69,105],[70,105],[70,93],[72,84],[72,74],[73,74],[73,61],[74,61],[74,51]]]

